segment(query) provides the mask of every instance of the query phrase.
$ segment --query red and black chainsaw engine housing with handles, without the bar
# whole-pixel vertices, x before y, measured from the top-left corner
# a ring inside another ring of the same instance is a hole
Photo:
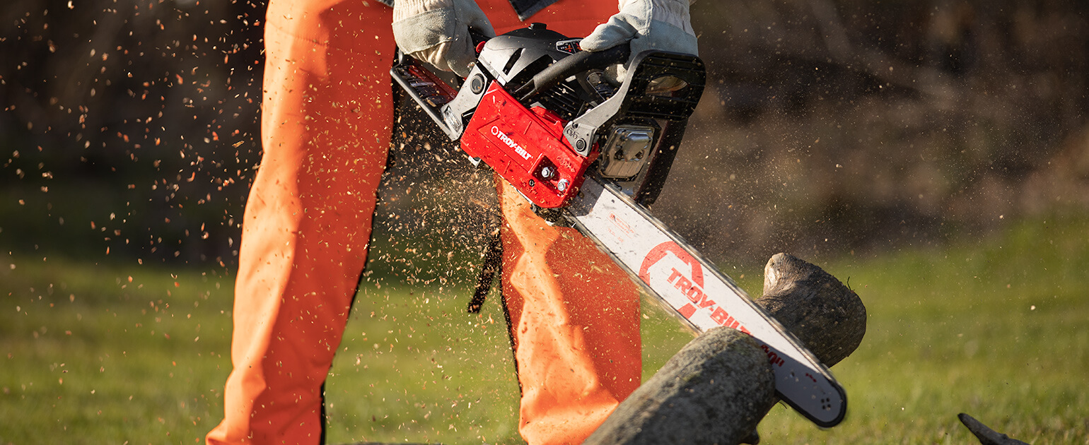
[[[623,79],[610,81],[605,69],[627,62],[627,47],[591,53],[579,40],[543,24],[493,37],[478,46],[453,96],[411,58],[391,73],[474,163],[491,166],[536,207],[564,207],[587,174],[648,205],[702,92],[703,64],[646,51]]]

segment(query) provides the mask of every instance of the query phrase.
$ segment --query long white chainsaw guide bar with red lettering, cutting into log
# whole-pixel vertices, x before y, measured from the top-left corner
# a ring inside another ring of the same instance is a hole
[[[565,211],[579,232],[697,332],[729,326],[751,335],[768,354],[775,392],[787,405],[820,427],[843,420],[847,395],[828,368],[643,206],[588,178]]]

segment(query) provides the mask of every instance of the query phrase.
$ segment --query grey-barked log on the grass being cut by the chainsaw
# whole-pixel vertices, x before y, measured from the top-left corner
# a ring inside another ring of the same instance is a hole
[[[767,309],[828,366],[858,347],[866,307],[820,268],[779,254],[764,267]],[[635,391],[584,444],[757,443],[756,425],[775,405],[767,354],[748,335],[710,330]]]

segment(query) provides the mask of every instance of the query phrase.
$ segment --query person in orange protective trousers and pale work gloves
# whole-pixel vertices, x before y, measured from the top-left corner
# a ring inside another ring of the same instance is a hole
[[[223,420],[208,444],[325,442],[323,384],[367,258],[393,125],[394,41],[464,74],[467,29],[547,23],[695,53],[688,0],[272,0],[264,153],[243,220]],[[392,25],[392,26],[391,26]],[[660,36],[654,39],[652,36]],[[579,443],[639,385],[634,284],[571,228],[546,224],[502,181],[501,286],[529,444]]]

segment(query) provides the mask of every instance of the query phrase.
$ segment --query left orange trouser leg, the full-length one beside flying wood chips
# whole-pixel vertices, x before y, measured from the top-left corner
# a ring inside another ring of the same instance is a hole
[[[209,444],[317,444],[390,140],[391,10],[269,5],[261,143],[235,283],[225,417]]]

